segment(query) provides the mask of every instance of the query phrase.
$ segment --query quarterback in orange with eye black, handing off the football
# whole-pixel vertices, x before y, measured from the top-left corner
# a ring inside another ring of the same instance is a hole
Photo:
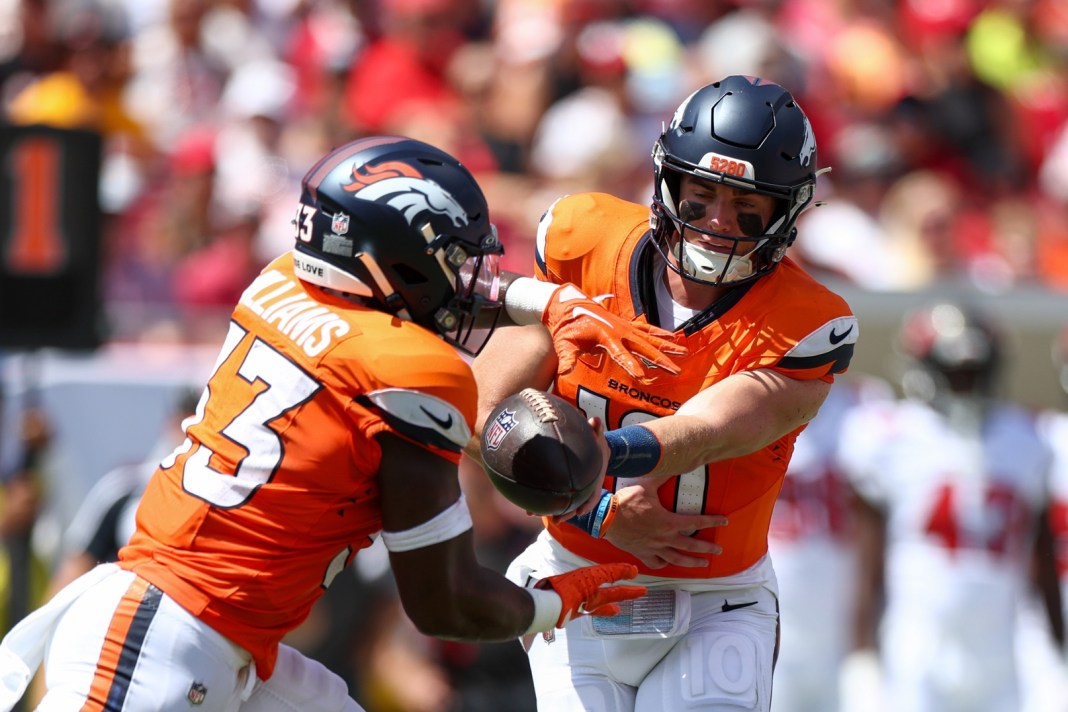
[[[818,173],[812,126],[789,92],[737,76],[703,86],[653,159],[651,215],[601,193],[562,197],[541,220],[535,270],[550,285],[612,295],[603,303],[622,319],[672,331],[688,351],[675,360],[681,371],[650,369],[642,382],[579,354],[560,373],[545,330],[501,329],[474,361],[475,431],[528,386],[602,420],[598,507],[547,519],[508,575],[529,584],[629,561],[649,588],[621,616],[524,638],[539,709],[767,712],[772,506],[795,438],[849,365],[859,327],[786,256]]]

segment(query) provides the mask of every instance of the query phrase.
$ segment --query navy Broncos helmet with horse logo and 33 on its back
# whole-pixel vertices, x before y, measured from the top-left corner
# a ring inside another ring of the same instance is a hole
[[[491,333],[503,248],[478,184],[445,152],[396,136],[332,151],[301,181],[296,227],[301,280],[364,297],[469,353]]]

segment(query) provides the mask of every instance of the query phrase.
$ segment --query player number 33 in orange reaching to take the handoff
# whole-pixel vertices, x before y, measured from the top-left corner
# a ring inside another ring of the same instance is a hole
[[[430,635],[508,640],[644,594],[603,586],[637,575],[629,564],[530,589],[480,566],[457,477],[476,389],[457,348],[477,350],[493,325],[480,319],[504,306],[640,378],[634,354],[673,368],[656,333],[572,287],[502,300],[482,190],[419,141],[332,151],[304,176],[294,224],[294,250],[234,308],[119,563],[0,643],[0,710],[42,661],[42,710],[359,710],[341,678],[280,640],[378,536],[406,613]],[[521,296],[524,279],[512,282]]]

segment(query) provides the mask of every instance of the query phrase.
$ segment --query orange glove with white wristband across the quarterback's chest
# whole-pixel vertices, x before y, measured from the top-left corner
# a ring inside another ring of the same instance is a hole
[[[579,352],[604,349],[632,378],[645,380],[648,369],[676,375],[679,367],[666,354],[685,355],[687,349],[672,341],[671,332],[651,325],[628,321],[604,306],[610,296],[587,297],[574,284],[553,292],[541,322],[552,334],[560,373],[575,368]]]

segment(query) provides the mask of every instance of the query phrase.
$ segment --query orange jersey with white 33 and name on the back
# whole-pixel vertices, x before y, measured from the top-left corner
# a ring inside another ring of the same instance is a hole
[[[251,652],[267,679],[282,636],[381,529],[375,436],[458,462],[475,407],[452,347],[307,285],[279,257],[235,307],[120,564]]]

